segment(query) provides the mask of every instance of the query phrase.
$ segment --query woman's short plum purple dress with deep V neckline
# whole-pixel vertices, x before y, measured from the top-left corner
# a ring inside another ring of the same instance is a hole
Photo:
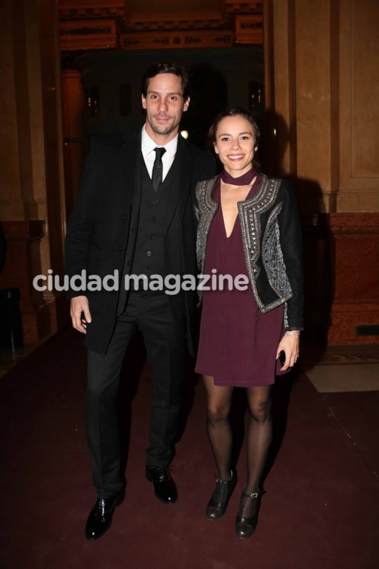
[[[240,184],[249,184],[246,174]],[[257,192],[261,176],[250,188],[246,199]],[[220,203],[221,176],[213,188],[213,199]],[[212,269],[216,269],[217,273]],[[226,237],[221,205],[209,229],[205,274],[246,275],[246,262],[239,217],[232,233]],[[209,281],[208,283],[209,284]],[[277,348],[283,334],[283,304],[262,314],[254,299],[250,284],[245,291],[232,288],[203,292],[200,322],[200,341],[196,373],[213,377],[215,385],[252,387],[270,385],[275,373],[281,374],[276,360]],[[285,372],[282,372],[285,373]]]

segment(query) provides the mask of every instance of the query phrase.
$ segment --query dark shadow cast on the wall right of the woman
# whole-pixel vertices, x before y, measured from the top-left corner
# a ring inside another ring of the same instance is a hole
[[[293,184],[298,202],[303,234],[304,261],[304,338],[325,347],[333,298],[332,239],[329,215],[323,193],[316,180],[284,175],[283,156],[290,147],[296,156],[295,126],[288,129],[283,117],[271,110],[265,113],[262,170],[266,174],[287,178]],[[292,171],[296,164],[291,163]]]

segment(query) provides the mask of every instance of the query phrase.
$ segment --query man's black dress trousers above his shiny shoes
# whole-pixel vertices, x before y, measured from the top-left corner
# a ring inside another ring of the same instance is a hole
[[[184,380],[186,321],[174,320],[162,292],[131,292],[117,317],[106,354],[88,351],[86,430],[93,484],[109,498],[123,485],[116,401],[126,348],[141,330],[153,372],[153,398],[146,465],[166,467],[174,453]],[[126,379],[127,381],[127,379]]]

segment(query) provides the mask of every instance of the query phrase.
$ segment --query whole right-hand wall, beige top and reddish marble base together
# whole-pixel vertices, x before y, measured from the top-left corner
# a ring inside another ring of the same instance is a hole
[[[308,329],[377,343],[356,327],[379,324],[379,3],[267,0],[264,21],[267,139],[302,215]]]

